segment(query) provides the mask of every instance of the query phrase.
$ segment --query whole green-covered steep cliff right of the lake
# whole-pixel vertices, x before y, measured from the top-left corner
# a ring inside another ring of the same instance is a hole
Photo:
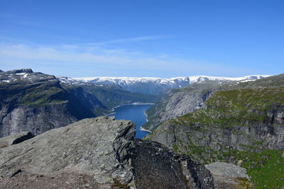
[[[256,188],[284,185],[284,74],[227,85],[204,108],[163,122],[148,136],[203,164],[248,168]]]

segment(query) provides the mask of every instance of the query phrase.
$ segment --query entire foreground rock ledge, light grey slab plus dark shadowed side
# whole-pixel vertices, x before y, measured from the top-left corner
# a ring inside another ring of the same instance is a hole
[[[211,173],[131,121],[99,117],[0,149],[0,188],[214,188]]]

